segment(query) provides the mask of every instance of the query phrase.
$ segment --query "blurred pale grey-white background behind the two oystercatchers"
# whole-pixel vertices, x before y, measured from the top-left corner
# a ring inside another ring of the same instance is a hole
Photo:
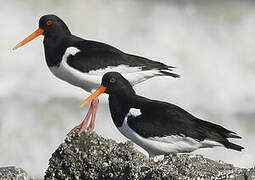
[[[89,94],[48,70],[43,37],[12,51],[56,14],[71,32],[125,52],[178,67],[180,79],[157,77],[135,87],[138,94],[177,104],[197,117],[237,132],[243,152],[195,151],[239,167],[255,162],[255,2],[135,0],[0,0],[0,166],[24,168],[42,178],[48,160],[87,109]],[[96,132],[126,139],[100,98]]]

